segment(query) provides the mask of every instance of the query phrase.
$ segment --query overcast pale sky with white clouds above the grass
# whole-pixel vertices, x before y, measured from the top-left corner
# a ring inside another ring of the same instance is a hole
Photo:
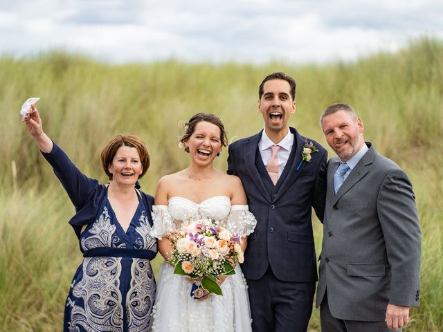
[[[0,54],[322,63],[443,39],[442,17],[442,0],[1,0]]]

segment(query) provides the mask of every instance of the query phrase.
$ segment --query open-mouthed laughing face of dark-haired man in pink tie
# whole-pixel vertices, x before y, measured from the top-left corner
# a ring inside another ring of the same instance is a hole
[[[296,102],[290,93],[291,86],[285,80],[275,79],[264,83],[258,110],[262,113],[266,133],[286,133],[289,117],[296,112]]]

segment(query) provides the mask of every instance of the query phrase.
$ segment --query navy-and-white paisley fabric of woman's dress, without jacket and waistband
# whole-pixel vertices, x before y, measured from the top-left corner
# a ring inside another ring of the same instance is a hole
[[[84,257],[73,278],[66,299],[66,332],[144,332],[149,331],[156,293],[149,259],[115,257],[113,248],[157,251],[156,239],[143,202],[127,232],[116,220],[107,199],[80,236],[80,249],[88,252],[109,248],[109,257]],[[107,251],[105,251],[107,252]]]

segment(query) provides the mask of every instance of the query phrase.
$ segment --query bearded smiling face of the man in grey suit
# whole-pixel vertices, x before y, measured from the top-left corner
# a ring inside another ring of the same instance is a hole
[[[336,111],[323,117],[323,133],[329,147],[342,161],[350,160],[363,147],[363,121],[347,111]]]

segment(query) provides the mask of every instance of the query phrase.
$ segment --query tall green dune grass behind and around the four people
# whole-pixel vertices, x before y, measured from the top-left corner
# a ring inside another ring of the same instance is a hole
[[[404,331],[443,331],[443,44],[433,39],[353,63],[303,66],[172,60],[117,66],[58,52],[0,58],[0,331],[60,331],[81,260],[66,222],[71,203],[20,121],[26,98],[42,98],[37,108],[45,131],[102,182],[105,143],[116,133],[141,136],[152,158],[141,184],[154,194],[161,176],[188,165],[177,138],[194,113],[217,114],[230,140],[262,128],[257,88],[274,71],[296,78],[291,125],[302,134],[326,146],[320,113],[332,102],[347,102],[363,118],[365,139],[410,176],[423,234],[422,295]],[[226,169],[226,157],[225,149],[216,160],[219,169]],[[319,250],[318,221],[314,229]],[[309,331],[320,331],[319,325],[314,310]]]

